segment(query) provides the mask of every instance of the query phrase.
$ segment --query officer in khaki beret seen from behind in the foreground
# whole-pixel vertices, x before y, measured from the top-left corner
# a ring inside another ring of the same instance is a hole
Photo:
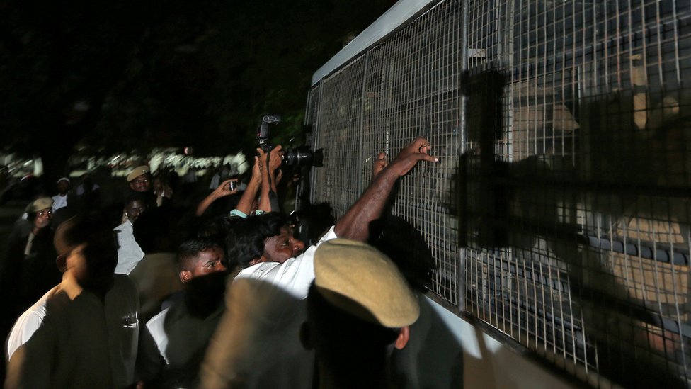
[[[322,244],[300,332],[305,348],[316,351],[319,388],[392,388],[390,356],[406,346],[419,315],[387,256],[348,239]]]

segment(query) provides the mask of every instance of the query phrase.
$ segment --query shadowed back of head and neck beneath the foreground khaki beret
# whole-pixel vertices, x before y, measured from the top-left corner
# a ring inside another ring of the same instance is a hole
[[[342,388],[372,385],[389,379],[387,363],[396,329],[350,315],[324,298],[312,282],[307,294],[307,320],[316,357]]]

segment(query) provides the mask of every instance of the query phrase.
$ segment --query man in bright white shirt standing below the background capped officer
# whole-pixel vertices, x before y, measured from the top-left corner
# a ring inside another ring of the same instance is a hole
[[[144,258],[142,251],[132,230],[132,225],[139,218],[142,212],[147,210],[147,201],[145,195],[140,192],[132,192],[125,203],[125,215],[127,220],[118,227],[115,227],[115,232],[118,233],[118,266],[115,266],[115,273],[130,274],[132,269],[135,269],[137,263]]]

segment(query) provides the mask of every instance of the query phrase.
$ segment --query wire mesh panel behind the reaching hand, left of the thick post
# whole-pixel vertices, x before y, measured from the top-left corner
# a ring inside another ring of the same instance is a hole
[[[416,136],[435,145],[442,162],[421,165],[401,180],[392,213],[421,232],[438,269],[433,290],[453,304],[459,276],[451,211],[460,154],[459,17],[457,4],[442,4],[367,53],[362,147],[372,158],[395,154]],[[363,187],[370,179],[371,165],[365,166]]]

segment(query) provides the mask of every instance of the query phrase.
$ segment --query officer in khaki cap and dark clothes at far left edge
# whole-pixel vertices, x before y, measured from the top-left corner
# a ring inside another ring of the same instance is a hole
[[[18,220],[8,239],[8,251],[0,266],[0,291],[4,310],[12,319],[60,281],[50,227],[52,205],[50,197],[29,203],[27,219]]]

